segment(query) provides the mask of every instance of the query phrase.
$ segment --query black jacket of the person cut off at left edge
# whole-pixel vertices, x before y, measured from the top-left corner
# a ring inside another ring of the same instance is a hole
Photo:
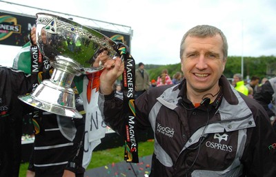
[[[0,65],[0,177],[19,176],[22,116],[28,107],[17,96],[31,90],[30,77]]]

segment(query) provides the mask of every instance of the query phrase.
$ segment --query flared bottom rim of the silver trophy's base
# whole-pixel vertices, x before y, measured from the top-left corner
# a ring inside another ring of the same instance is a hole
[[[24,103],[27,103],[32,107],[37,107],[38,109],[44,110],[46,112],[51,112],[53,114],[58,114],[61,116],[68,116],[71,118],[82,118],[82,115],[79,114],[79,112],[74,108],[46,103],[44,101],[38,100],[37,98],[34,98],[34,96],[32,96],[31,94],[18,96],[18,98]]]

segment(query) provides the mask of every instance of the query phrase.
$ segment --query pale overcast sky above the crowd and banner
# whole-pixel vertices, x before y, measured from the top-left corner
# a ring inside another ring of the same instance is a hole
[[[136,63],[179,63],[182,36],[203,24],[215,25],[224,32],[228,56],[276,56],[275,0],[7,1],[130,26],[131,52]],[[32,15],[41,12],[14,8],[1,1],[0,10]],[[0,65],[11,66],[18,50],[0,45]]]

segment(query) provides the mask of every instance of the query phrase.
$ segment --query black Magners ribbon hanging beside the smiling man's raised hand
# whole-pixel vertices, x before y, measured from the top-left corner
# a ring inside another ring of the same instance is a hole
[[[137,128],[135,126],[135,60],[129,54],[128,47],[123,43],[117,44],[117,51],[121,56],[121,61],[124,61],[122,74],[124,112],[126,113],[124,118],[126,127],[124,160],[128,163],[139,163]]]

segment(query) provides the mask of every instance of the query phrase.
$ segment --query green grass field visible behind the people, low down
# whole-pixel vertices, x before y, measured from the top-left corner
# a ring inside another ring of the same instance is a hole
[[[153,140],[139,143],[139,157],[149,156],[153,152]],[[92,159],[87,169],[102,167],[124,161],[124,147],[116,147],[92,153]],[[111,162],[111,163],[110,163]],[[19,177],[26,177],[28,163],[21,163]]]

